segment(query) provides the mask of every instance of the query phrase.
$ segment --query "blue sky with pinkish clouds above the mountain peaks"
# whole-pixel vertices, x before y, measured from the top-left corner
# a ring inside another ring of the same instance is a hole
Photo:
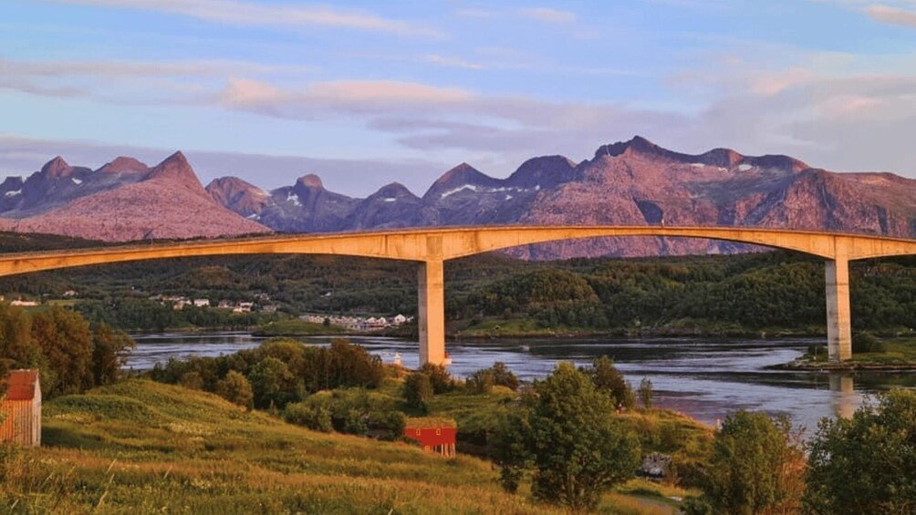
[[[204,183],[422,194],[639,134],[916,177],[916,0],[5,0],[0,177],[176,150]]]

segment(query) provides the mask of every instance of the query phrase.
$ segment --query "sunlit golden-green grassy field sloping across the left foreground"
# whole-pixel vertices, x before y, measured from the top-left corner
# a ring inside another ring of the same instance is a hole
[[[505,494],[496,471],[481,459],[446,459],[403,443],[315,433],[207,393],[151,381],[46,402],[43,424],[41,448],[0,447],[0,510],[562,512]],[[671,513],[668,498],[681,493],[633,481],[605,496],[601,509]]]

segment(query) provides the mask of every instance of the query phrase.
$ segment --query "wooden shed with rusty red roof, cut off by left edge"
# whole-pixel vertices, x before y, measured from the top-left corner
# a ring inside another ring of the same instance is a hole
[[[5,420],[0,442],[41,445],[41,385],[38,370],[13,370],[6,378],[6,394],[0,404]]]

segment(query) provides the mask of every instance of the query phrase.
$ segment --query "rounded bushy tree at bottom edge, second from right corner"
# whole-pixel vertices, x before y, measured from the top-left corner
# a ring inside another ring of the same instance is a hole
[[[704,497],[717,513],[794,513],[804,471],[788,417],[741,410],[726,417],[714,437]]]

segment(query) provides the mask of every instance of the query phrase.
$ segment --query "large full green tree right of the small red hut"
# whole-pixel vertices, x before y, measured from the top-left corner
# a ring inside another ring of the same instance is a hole
[[[593,509],[603,491],[633,477],[638,438],[616,417],[611,396],[571,363],[558,364],[534,390],[525,426],[504,424],[495,440],[518,448],[518,434],[524,435],[519,456],[534,469],[535,498]]]

